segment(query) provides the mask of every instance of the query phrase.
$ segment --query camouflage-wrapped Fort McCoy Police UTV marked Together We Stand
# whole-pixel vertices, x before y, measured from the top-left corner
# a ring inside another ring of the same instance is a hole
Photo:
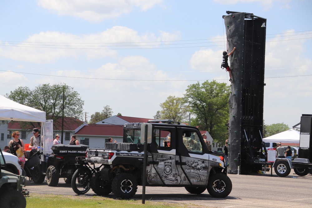
[[[105,149],[88,148],[86,161],[103,164],[91,179],[92,190],[98,195],[113,192],[118,198],[129,199],[138,185],[146,183],[146,186],[185,187],[191,194],[201,194],[207,189],[213,197],[228,196],[232,182],[219,157],[224,154],[210,154],[196,127],[171,122],[151,120],[124,124],[123,143],[106,143]],[[145,127],[149,135],[143,175]],[[163,143],[169,134],[170,146]],[[196,138],[198,143],[194,141]],[[183,143],[183,139],[188,142]]]

